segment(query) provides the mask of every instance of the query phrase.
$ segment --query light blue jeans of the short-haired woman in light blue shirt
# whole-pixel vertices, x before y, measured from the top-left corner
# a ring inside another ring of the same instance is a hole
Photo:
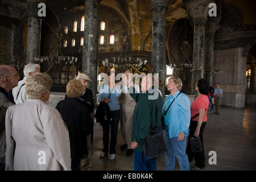
[[[186,138],[182,141],[178,141],[177,137],[169,138],[168,126],[164,125],[164,141],[166,142],[166,147],[168,148],[166,154],[166,170],[167,171],[174,171],[175,168],[175,157],[180,164],[181,171],[189,171],[189,162],[188,156],[186,154]]]

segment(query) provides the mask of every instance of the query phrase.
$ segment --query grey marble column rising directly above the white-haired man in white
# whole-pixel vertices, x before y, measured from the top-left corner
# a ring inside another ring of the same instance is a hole
[[[40,56],[41,19],[38,16],[38,3],[42,1],[28,1],[27,10],[27,63],[35,63],[35,57]]]

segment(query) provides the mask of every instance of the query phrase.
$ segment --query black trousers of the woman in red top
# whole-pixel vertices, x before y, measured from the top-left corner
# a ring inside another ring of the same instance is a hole
[[[200,132],[199,132],[199,137],[201,139],[203,151],[196,152],[196,153],[191,152],[190,138],[192,138],[194,136],[194,133],[196,131],[196,126],[197,126],[197,121],[191,121],[190,126],[189,126],[190,130],[189,130],[189,135],[188,135],[188,144],[187,144],[186,153],[188,155],[189,162],[191,162],[193,160],[193,157],[195,157],[195,161],[196,161],[195,166],[199,167],[199,168],[205,167],[204,140],[203,140],[203,132],[204,132],[205,125],[206,125],[206,122],[203,122],[200,127]]]

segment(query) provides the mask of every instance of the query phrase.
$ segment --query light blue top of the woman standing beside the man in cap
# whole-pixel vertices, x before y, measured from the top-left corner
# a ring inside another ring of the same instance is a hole
[[[111,96],[110,91],[112,91]],[[119,105],[119,96],[121,96],[122,93],[122,88],[120,85],[118,85],[118,89],[112,89],[110,90],[108,85],[102,85],[100,94],[98,95],[98,102],[100,102],[101,98],[109,98],[110,102],[108,103],[110,111],[113,110],[119,110],[120,105]]]

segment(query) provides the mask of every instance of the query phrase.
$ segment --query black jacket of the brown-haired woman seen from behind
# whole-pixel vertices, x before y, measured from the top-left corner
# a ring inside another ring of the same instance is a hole
[[[68,127],[71,159],[84,157],[87,152],[86,136],[93,127],[86,106],[78,98],[66,98],[57,104],[56,109]]]

